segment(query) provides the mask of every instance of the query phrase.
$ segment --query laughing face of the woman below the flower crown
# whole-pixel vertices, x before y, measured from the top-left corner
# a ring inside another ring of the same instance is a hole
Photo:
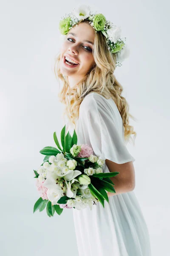
[[[88,42],[88,41],[91,41]],[[94,30],[90,24],[79,23],[70,29],[62,44],[60,55],[60,72],[63,76],[83,78],[95,64],[92,53],[94,44]],[[68,65],[68,61],[74,61],[77,65]]]

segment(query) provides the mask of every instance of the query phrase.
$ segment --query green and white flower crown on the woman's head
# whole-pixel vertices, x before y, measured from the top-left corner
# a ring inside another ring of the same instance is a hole
[[[68,31],[77,26],[80,20],[89,20],[91,26],[97,31],[101,31],[106,37],[108,49],[111,53],[116,54],[116,67],[122,66],[122,61],[129,56],[129,49],[125,45],[126,38],[120,38],[120,26],[116,26],[110,21],[106,20],[101,13],[92,12],[89,6],[80,5],[77,9],[62,16],[59,21],[59,31],[62,35],[67,35]]]

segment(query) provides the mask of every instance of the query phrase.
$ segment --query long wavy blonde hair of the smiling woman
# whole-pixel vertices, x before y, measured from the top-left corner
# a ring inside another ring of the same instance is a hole
[[[88,20],[81,20],[79,23],[80,22],[89,24]],[[91,25],[89,24],[89,26]],[[54,74],[58,81],[61,79],[63,83],[62,90],[59,91],[58,97],[59,102],[65,105],[64,115],[68,117],[69,122],[74,125],[76,131],[76,121],[79,118],[79,106],[88,93],[96,92],[106,99],[112,98],[123,120],[125,141],[129,142],[132,139],[131,135],[134,134],[134,143],[136,132],[133,131],[133,126],[129,125],[129,117],[133,120],[135,120],[135,118],[129,113],[127,100],[121,95],[123,91],[122,85],[113,75],[116,68],[116,54],[109,51],[106,38],[100,31],[94,33],[93,56],[95,65],[91,67],[86,76],[72,88],[69,87],[68,76],[63,76],[60,72],[60,53],[54,59]]]

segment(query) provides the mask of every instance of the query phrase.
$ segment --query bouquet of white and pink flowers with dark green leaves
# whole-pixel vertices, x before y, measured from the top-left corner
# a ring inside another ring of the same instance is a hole
[[[95,156],[88,144],[77,145],[75,130],[71,137],[69,131],[65,136],[65,126],[62,128],[62,148],[56,132],[54,142],[58,149],[50,146],[42,148],[40,153],[45,155],[43,163],[34,170],[40,193],[40,198],[34,204],[34,212],[38,209],[41,212],[46,207],[51,217],[55,212],[60,215],[63,209],[92,209],[98,201],[104,207],[104,200],[109,202],[107,191],[116,192],[110,177],[119,172],[103,173],[105,160]]]

